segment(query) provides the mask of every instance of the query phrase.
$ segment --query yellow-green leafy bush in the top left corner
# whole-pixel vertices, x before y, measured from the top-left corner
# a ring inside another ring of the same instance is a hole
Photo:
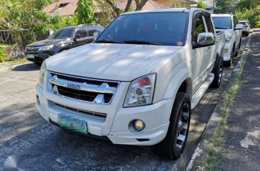
[[[1,29],[29,29],[33,33],[46,33],[50,16],[42,11],[50,0],[5,0],[0,4]]]

